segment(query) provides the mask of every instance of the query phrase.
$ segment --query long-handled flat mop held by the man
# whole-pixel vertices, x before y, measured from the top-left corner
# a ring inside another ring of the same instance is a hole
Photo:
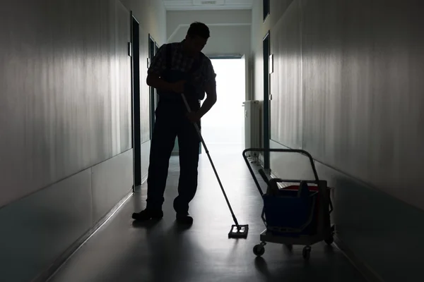
[[[187,111],[189,113],[191,113],[192,110],[190,109],[189,103],[187,103],[187,99],[186,99],[186,97],[184,96],[183,93],[181,94],[181,97],[182,97],[182,100],[184,101],[184,104],[185,104],[185,106],[187,108]],[[225,194],[225,190],[223,188],[223,184],[221,183],[220,178],[218,176],[218,173],[216,172],[216,168],[213,165],[213,161],[211,159],[211,155],[209,154],[209,151],[208,151],[208,148],[206,147],[205,141],[204,141],[203,137],[201,136],[201,133],[200,133],[200,130],[199,130],[199,125],[197,125],[197,123],[194,123],[194,128],[196,128],[196,132],[197,132],[197,135],[199,135],[199,138],[201,140],[201,144],[204,146],[204,149],[205,149],[206,154],[208,155],[209,161],[211,161],[211,166],[213,168],[213,172],[215,173],[216,179],[218,180],[218,183],[220,185],[220,188],[223,191],[223,195],[225,197],[225,201],[228,204],[228,208],[230,209],[230,212],[231,212],[231,215],[232,215],[232,219],[234,220],[234,223],[235,223],[235,224],[233,224],[231,226],[231,230],[228,233],[228,238],[247,238],[247,233],[249,232],[249,225],[247,225],[247,224],[240,225],[238,223],[237,218],[235,217],[234,212],[232,212],[231,204],[228,201],[228,197]]]

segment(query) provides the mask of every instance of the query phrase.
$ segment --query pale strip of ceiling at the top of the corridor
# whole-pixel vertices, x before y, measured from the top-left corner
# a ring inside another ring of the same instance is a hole
[[[163,0],[167,11],[249,10],[253,0]]]

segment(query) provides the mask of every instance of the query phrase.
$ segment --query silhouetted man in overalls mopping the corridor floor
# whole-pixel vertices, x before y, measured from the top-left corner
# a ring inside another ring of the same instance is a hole
[[[179,183],[174,200],[177,222],[191,225],[189,202],[196,194],[200,139],[193,123],[216,103],[216,74],[204,49],[209,29],[204,23],[192,23],[182,42],[164,44],[148,69],[147,84],[158,90],[155,127],[151,140],[148,168],[147,207],[132,215],[136,221],[162,219],[162,205],[169,160],[178,137]],[[200,106],[200,101],[205,102]],[[187,113],[181,94],[184,93],[192,113]]]

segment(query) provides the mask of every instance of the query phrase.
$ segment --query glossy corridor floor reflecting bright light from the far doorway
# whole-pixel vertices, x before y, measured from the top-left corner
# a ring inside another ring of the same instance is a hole
[[[164,219],[134,225],[132,212],[145,206],[143,185],[51,281],[365,281],[336,247],[324,243],[312,246],[309,262],[302,258],[302,247],[289,251],[276,244],[266,245],[257,258],[252,248],[264,223],[252,176],[239,150],[210,151],[237,219],[249,224],[247,240],[228,239],[232,218],[206,154],[199,161],[199,189],[190,209],[194,224],[187,230],[175,226],[178,158],[172,157]]]

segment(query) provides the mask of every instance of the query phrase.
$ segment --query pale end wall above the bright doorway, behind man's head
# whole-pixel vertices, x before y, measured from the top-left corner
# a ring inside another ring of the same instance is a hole
[[[211,30],[206,55],[250,54],[252,11],[167,11],[167,41],[184,39],[195,21]]]

